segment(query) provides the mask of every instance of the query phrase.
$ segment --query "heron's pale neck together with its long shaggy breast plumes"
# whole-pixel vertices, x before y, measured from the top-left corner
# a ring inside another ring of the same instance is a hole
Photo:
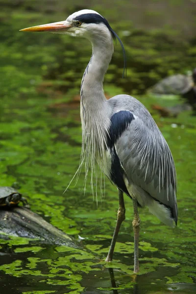
[[[81,161],[85,162],[86,174],[89,167],[93,172],[95,159],[100,162],[106,150],[110,127],[110,112],[103,92],[103,77],[113,54],[113,40],[107,27],[99,34],[89,37],[93,53],[81,83],[80,114],[82,122]]]

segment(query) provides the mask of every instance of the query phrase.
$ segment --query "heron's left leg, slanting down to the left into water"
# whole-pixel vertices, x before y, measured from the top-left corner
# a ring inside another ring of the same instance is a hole
[[[119,189],[118,189],[119,190]],[[117,223],[114,230],[114,234],[112,237],[112,242],[110,245],[110,249],[108,252],[108,255],[106,257],[105,261],[112,261],[113,253],[114,253],[114,247],[117,241],[118,233],[121,227],[122,222],[125,220],[125,207],[124,207],[124,198],[123,198],[123,192],[119,190],[119,210],[117,213]]]

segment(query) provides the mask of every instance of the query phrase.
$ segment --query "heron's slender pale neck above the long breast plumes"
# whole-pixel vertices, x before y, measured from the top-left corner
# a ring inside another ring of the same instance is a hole
[[[81,102],[87,107],[95,107],[100,105],[101,101],[106,100],[103,92],[103,77],[114,51],[109,30],[105,38],[98,35],[92,37],[91,43],[93,47],[92,57],[84,72],[80,92]]]

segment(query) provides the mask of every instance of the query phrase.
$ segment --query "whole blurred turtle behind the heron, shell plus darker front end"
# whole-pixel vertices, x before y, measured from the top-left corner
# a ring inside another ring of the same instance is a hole
[[[149,89],[152,94],[180,95],[196,111],[196,68],[192,74],[175,74],[168,76]]]

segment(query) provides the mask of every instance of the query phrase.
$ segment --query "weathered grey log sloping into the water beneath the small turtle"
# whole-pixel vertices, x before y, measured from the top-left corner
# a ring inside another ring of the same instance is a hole
[[[48,244],[82,247],[73,237],[25,207],[0,209],[0,230],[9,235],[38,238]]]

